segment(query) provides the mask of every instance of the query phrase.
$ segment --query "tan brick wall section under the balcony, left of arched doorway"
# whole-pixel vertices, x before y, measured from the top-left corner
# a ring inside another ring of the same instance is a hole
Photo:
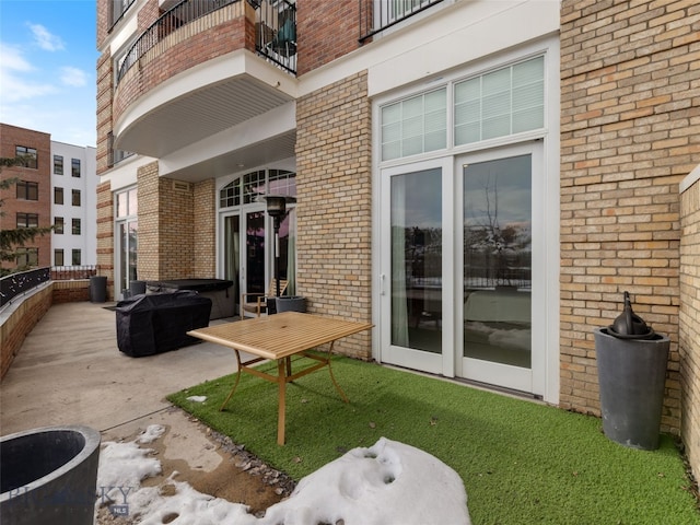
[[[137,179],[139,279],[194,277],[194,185],[159,177],[158,162],[140,167]]]

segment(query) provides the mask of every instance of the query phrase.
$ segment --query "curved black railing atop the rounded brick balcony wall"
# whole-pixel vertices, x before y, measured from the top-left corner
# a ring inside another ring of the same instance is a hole
[[[171,33],[197,19],[201,19],[221,8],[240,1],[241,0],[183,0],[166,11],[133,43],[119,62],[116,83],[119,83],[127,71],[129,71],[143,55]]]

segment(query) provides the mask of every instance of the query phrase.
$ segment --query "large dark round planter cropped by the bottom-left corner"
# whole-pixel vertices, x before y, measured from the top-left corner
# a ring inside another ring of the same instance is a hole
[[[100,432],[45,427],[0,439],[3,525],[92,525]]]

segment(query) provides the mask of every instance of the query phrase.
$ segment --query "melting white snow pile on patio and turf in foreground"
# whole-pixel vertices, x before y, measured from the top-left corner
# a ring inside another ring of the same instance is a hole
[[[161,472],[148,444],[164,432],[150,425],[136,441],[105,442],[100,455],[95,509],[108,505],[130,523],[160,525],[470,525],[462,479],[440,459],[416,447],[380,439],[369,448],[353,448],[303,478],[284,501],[264,517],[195,490],[184,481],[163,487],[140,482]]]

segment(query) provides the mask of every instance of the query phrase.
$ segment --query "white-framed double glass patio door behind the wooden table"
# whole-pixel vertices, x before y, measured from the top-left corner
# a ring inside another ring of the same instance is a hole
[[[542,392],[541,173],[539,142],[383,171],[383,362]]]

